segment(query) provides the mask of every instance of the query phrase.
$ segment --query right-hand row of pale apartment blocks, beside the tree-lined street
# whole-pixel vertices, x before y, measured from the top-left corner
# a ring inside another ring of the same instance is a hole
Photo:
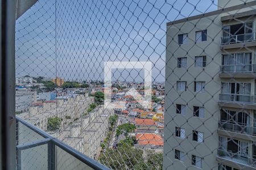
[[[104,109],[103,106],[99,106],[87,116],[80,117],[71,126],[60,131],[59,134],[53,135],[95,159],[100,154],[101,143],[108,133],[109,116],[113,114],[113,109]]]

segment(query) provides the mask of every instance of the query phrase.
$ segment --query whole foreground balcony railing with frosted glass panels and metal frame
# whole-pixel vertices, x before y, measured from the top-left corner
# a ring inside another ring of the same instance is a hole
[[[16,117],[16,169],[109,169]]]

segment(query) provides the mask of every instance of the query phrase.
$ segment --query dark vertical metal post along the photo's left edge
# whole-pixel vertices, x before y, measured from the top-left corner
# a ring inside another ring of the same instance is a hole
[[[1,165],[16,169],[15,150],[15,8],[16,1],[1,1]]]

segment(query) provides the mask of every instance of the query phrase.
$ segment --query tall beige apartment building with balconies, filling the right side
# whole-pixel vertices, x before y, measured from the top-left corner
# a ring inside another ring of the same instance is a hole
[[[244,1],[167,23],[164,169],[256,169],[256,1]]]

